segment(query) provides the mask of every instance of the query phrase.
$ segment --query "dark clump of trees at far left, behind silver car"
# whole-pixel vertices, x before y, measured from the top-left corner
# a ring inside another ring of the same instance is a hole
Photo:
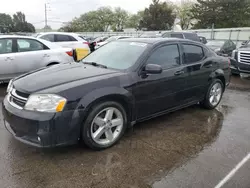
[[[26,21],[25,14],[17,12],[13,16],[0,13],[0,33],[35,32],[35,27]]]

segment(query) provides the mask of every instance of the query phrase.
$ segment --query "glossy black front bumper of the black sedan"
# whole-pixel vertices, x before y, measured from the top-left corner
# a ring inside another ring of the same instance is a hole
[[[41,148],[71,145],[80,137],[80,113],[42,113],[16,109],[5,98],[2,105],[6,129],[17,140]]]

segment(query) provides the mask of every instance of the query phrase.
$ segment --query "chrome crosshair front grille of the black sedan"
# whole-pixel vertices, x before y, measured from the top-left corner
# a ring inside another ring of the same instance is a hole
[[[18,109],[23,109],[29,96],[28,94],[19,92],[15,89],[12,89],[8,95],[9,95],[8,96],[9,103]],[[24,96],[27,96],[27,97],[24,97]]]

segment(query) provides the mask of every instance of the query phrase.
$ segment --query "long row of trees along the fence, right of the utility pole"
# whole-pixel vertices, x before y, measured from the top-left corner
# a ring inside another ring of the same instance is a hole
[[[175,23],[182,29],[250,26],[250,0],[185,0],[182,3],[152,0],[136,14],[122,8],[101,7],[82,14],[60,28],[67,32],[170,30]]]

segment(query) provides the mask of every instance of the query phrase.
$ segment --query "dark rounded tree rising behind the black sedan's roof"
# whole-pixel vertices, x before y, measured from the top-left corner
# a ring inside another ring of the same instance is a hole
[[[174,8],[169,2],[153,0],[149,8],[144,10],[140,28],[146,28],[147,30],[171,29],[176,17],[173,10]]]

